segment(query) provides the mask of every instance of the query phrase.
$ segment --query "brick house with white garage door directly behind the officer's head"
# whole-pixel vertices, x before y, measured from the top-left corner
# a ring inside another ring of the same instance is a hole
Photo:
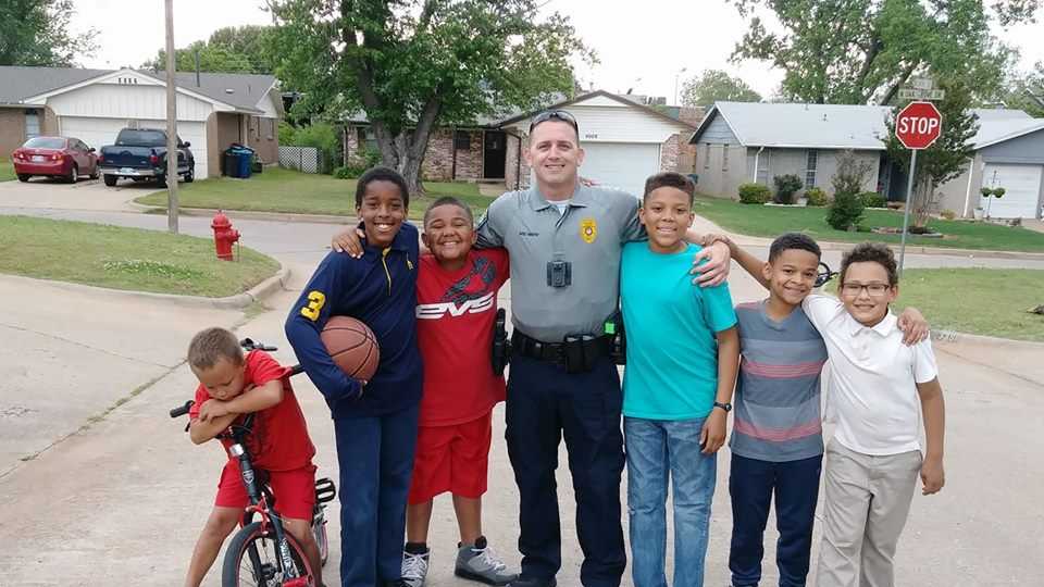
[[[551,104],[576,117],[586,155],[581,174],[605,185],[641,192],[645,178],[659,171],[693,173],[696,149],[687,139],[703,117],[701,109],[657,110],[602,90]],[[522,157],[529,146],[532,116],[542,110],[432,133],[422,174],[430,180],[504,182],[508,189],[529,186]],[[362,149],[376,150],[376,139],[362,116],[345,124],[345,161]]]

